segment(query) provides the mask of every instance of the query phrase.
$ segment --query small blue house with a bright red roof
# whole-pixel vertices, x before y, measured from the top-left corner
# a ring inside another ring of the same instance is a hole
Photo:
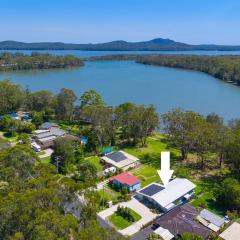
[[[140,180],[127,172],[111,177],[109,184],[119,189],[127,188],[129,192],[134,192],[141,188]]]

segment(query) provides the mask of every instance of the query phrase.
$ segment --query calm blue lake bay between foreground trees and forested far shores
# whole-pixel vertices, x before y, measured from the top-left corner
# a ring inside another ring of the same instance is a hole
[[[240,118],[240,87],[204,73],[136,64],[133,61],[87,62],[83,68],[1,73],[0,79],[32,91],[58,92],[66,87],[80,96],[100,92],[109,105],[126,101],[154,104],[159,113],[180,107],[202,114],[216,112],[225,120]]]

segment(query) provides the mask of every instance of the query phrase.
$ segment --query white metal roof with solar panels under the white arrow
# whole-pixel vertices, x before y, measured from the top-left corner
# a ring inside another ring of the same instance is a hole
[[[192,191],[196,185],[186,178],[175,178],[166,187],[152,183],[138,191],[140,194],[151,197],[160,206],[167,207],[172,202]]]

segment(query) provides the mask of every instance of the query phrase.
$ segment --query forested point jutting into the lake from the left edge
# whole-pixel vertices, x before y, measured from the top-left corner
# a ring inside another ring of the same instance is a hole
[[[51,69],[83,66],[83,61],[75,56],[53,56],[50,54],[4,52],[0,54],[0,71]]]

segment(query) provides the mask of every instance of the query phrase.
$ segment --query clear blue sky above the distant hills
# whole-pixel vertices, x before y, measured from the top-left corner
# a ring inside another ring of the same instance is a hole
[[[0,0],[0,41],[240,45],[239,0]]]

